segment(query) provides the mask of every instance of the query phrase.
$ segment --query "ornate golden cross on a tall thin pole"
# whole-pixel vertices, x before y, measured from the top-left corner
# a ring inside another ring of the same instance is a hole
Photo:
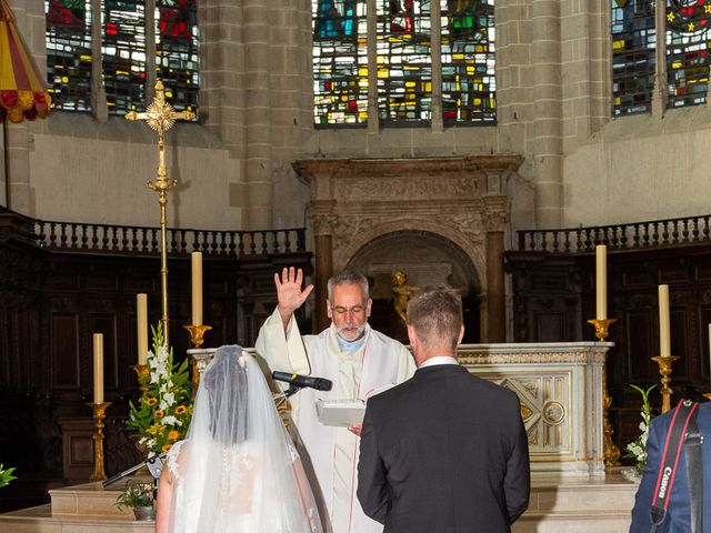
[[[178,184],[178,180],[168,179],[168,170],[166,169],[166,131],[176,123],[176,120],[192,120],[196,113],[192,111],[176,111],[173,107],[166,101],[163,91],[163,82],[156,82],[156,97],[150,103],[146,112],[137,113],[129,111],[126,113],[127,120],[144,120],[146,123],[158,133],[158,175],[153,181],[147,181],[146,185],[158,192],[158,203],[160,203],[160,276],[161,291],[163,302],[163,314],[161,322],[163,324],[163,342],[168,346],[168,251],[166,238],[166,204],[168,203],[168,191]]]

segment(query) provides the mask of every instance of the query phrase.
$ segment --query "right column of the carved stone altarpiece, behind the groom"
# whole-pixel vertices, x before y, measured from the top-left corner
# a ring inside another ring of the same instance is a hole
[[[504,195],[484,197],[487,228],[487,330],[482,342],[505,342],[507,309],[503,276],[503,234],[507,224],[508,199]]]

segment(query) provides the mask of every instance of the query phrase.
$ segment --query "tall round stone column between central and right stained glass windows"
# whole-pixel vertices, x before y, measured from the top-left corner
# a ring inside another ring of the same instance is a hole
[[[538,228],[560,228],[563,201],[559,0],[533,0],[533,169]]]

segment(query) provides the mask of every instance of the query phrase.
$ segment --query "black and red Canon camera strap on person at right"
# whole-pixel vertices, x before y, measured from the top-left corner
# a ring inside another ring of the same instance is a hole
[[[681,447],[687,450],[687,472],[689,473],[689,491],[691,496],[691,531],[701,533],[701,494],[703,490],[702,463],[701,463],[701,434],[697,424],[697,411],[699,403],[691,400],[681,400],[674,409],[674,413],[667,432],[664,451],[657,476],[654,496],[652,501],[652,529],[657,527],[667,517],[669,497],[677,477]]]

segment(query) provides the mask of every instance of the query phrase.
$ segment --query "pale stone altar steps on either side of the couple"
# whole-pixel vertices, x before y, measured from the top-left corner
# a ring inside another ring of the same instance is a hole
[[[533,474],[528,511],[513,533],[627,533],[637,485],[618,472],[604,479]],[[0,514],[3,533],[138,533],[153,522],[119,510],[120,483],[103,489],[87,483],[50,491],[51,504]],[[442,532],[445,533],[445,532]],[[482,532],[485,533],[485,532]]]

